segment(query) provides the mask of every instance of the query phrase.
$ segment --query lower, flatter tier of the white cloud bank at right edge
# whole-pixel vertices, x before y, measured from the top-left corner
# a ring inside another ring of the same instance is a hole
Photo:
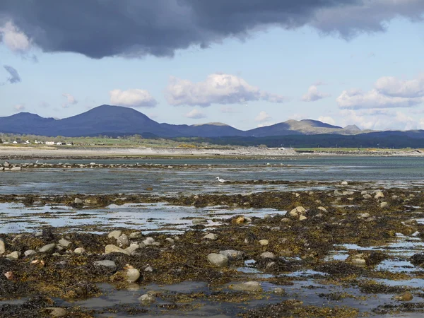
[[[389,107],[412,107],[420,104],[424,98],[403,98],[387,96],[373,89],[369,92],[351,89],[343,90],[336,98],[338,107],[359,110],[361,108],[389,108]]]

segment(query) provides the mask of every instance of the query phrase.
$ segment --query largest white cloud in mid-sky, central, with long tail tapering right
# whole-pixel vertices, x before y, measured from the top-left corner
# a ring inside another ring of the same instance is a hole
[[[288,100],[282,95],[271,94],[251,86],[240,77],[223,73],[208,75],[206,81],[199,83],[171,76],[165,97],[170,105],[201,107],[208,107],[211,104],[240,104],[255,100],[278,103]]]

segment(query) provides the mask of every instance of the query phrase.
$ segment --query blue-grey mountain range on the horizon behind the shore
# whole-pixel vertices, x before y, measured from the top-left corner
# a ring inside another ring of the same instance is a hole
[[[317,120],[288,120],[247,131],[223,123],[175,125],[158,123],[129,107],[101,105],[73,117],[54,119],[20,112],[0,117],[0,132],[39,136],[99,136],[153,134],[160,137],[286,136],[312,134],[360,134],[357,126],[333,126]]]

